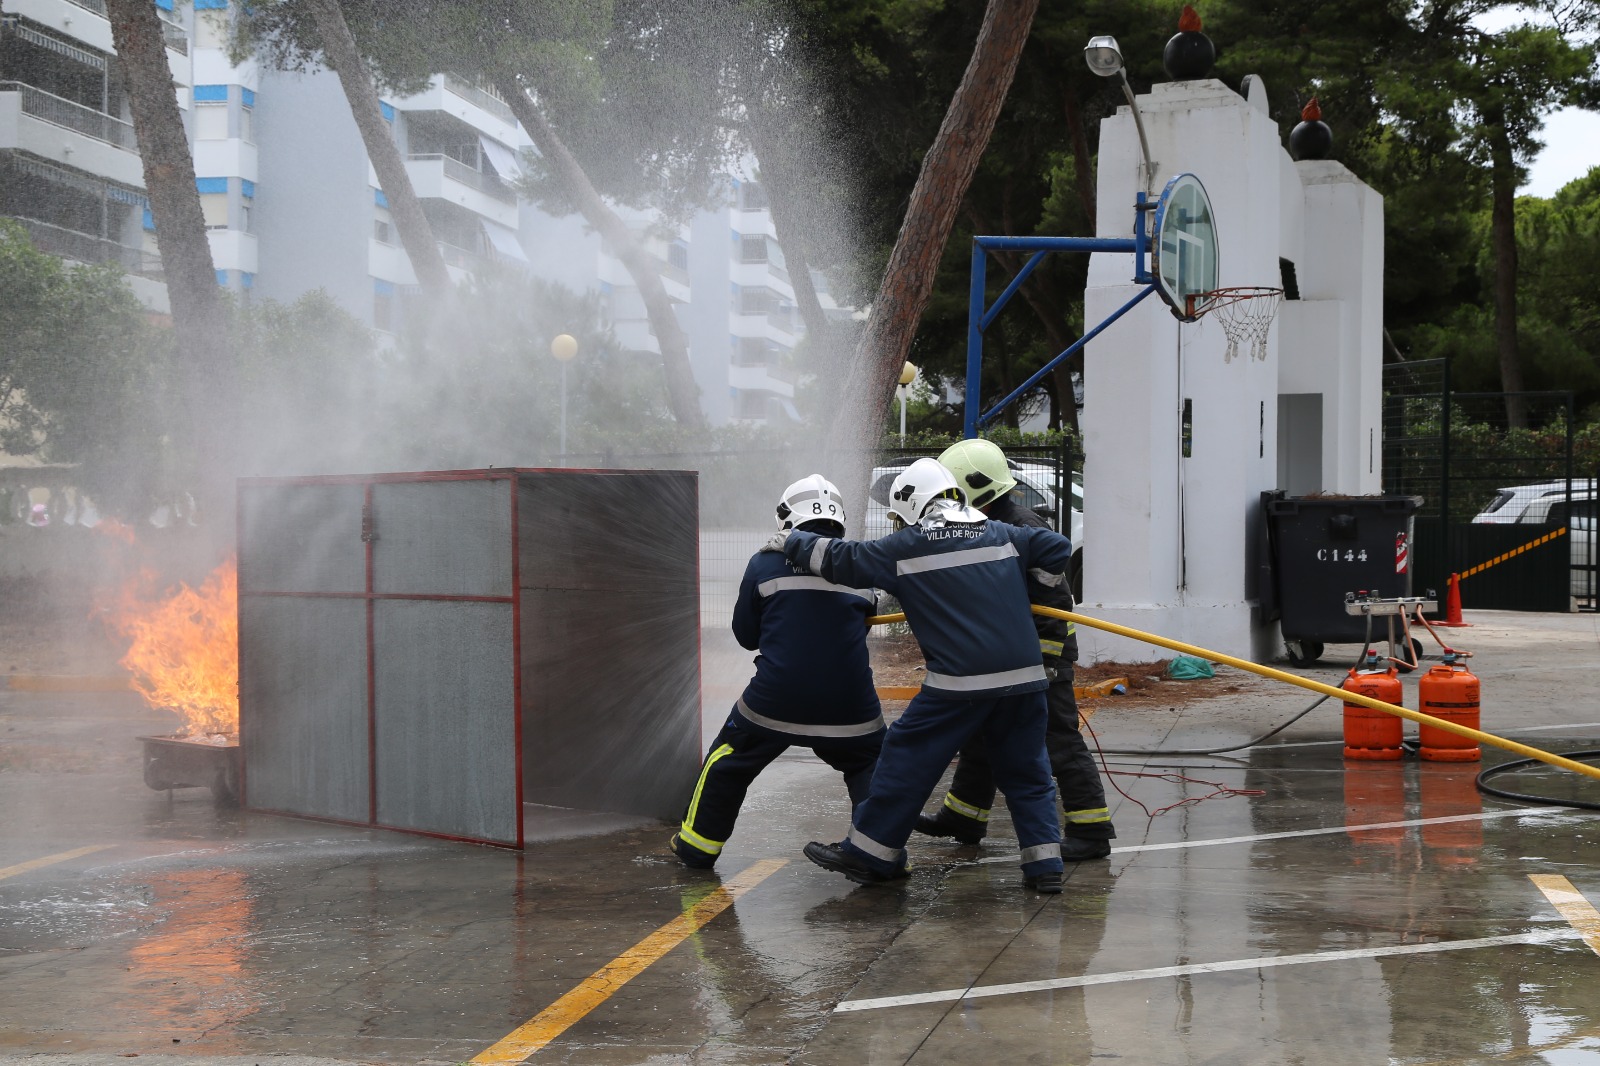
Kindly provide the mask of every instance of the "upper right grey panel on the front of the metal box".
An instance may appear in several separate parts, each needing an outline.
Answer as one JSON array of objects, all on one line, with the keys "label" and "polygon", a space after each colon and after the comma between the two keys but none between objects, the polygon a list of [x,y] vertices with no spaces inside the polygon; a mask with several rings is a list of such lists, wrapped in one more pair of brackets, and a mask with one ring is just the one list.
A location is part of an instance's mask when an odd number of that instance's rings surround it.
[{"label": "upper right grey panel on the front of the metal box", "polygon": [[373,485],[373,591],[512,594],[509,479]]}]

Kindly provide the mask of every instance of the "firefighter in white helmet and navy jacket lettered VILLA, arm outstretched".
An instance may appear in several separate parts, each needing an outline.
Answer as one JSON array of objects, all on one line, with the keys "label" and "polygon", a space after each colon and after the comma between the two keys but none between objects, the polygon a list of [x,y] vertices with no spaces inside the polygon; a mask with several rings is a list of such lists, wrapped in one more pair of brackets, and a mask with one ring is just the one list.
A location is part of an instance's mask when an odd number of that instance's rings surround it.
[{"label": "firefighter in white helmet and navy jacket lettered VILLA, arm outstretched", "polygon": [[1051,530],[990,522],[966,506],[950,472],[917,459],[890,487],[899,527],[875,541],[790,530],[770,551],[827,581],[899,599],[928,663],[922,690],[883,738],[872,791],[837,844],[811,842],[818,866],[872,885],[907,876],[906,840],[928,794],[981,736],[1011,808],[1022,884],[1061,892],[1061,823],[1045,759],[1045,688],[1027,573],[1061,579],[1072,557]]}]

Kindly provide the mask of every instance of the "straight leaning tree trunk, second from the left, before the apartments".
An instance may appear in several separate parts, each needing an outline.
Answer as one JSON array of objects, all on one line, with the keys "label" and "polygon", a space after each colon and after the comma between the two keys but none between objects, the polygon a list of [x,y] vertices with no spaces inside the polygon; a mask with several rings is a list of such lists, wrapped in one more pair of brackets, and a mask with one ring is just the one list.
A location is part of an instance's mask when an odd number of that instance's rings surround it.
[{"label": "straight leaning tree trunk, second from the left, before the apartments", "polygon": [[366,72],[362,53],[355,48],[355,37],[344,21],[344,11],[338,0],[306,0],[312,18],[317,22],[317,35],[322,38],[322,54],[328,66],[339,75],[344,88],[344,99],[350,104],[350,115],[355,128],[362,131],[362,144],[366,146],[366,157],[373,160],[378,171],[378,184],[389,200],[389,213],[395,219],[400,232],[400,243],[405,246],[416,280],[429,296],[442,298],[451,290],[450,271],[445,267],[445,256],[434,240],[434,227],[422,214],[422,202],[418,200],[411,187],[411,176],[405,171],[405,160],[395,146],[394,131],[384,120],[382,104],[378,102],[378,90]]}]

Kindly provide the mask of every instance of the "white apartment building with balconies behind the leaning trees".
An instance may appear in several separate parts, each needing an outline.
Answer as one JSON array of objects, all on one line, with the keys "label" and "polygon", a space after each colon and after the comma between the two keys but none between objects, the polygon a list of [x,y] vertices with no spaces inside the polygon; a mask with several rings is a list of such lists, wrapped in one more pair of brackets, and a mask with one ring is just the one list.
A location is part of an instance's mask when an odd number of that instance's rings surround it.
[{"label": "white apartment building with balconies behind the leaning trees", "polygon": [[[235,64],[227,45],[238,0],[152,2],[168,30],[218,283],[240,299],[285,303],[322,288],[392,333],[416,274],[338,77]],[[0,216],[62,258],[120,262],[141,299],[165,309],[104,2],[0,3]],[[440,74],[381,107],[458,280],[498,261],[598,291],[619,343],[659,357],[638,287],[611,250],[582,219],[518,200],[530,139],[502,99]],[[803,328],[782,248],[760,184],[730,176],[722,192],[717,206],[670,229],[651,213],[619,213],[674,301],[709,421],[797,419]]]}]

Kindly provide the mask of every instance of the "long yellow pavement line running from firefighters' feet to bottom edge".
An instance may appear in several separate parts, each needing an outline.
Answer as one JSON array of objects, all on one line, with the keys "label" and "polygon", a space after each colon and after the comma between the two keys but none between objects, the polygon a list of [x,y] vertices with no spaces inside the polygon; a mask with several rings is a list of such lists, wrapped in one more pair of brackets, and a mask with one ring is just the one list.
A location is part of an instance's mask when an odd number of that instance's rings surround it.
[{"label": "long yellow pavement line running from firefighters' feet to bottom edge", "polygon": [[630,980],[643,973],[650,964],[693,936],[702,925],[733,906],[733,901],[787,866],[789,860],[760,860],[738,877],[718,885],[688,911],[672,919],[654,933],[638,941],[611,962],[589,975],[582,984],[539,1012],[526,1024],[518,1026],[504,1040],[483,1052],[472,1063],[522,1063],[546,1044],[562,1036],[568,1028],[610,999]]}]

